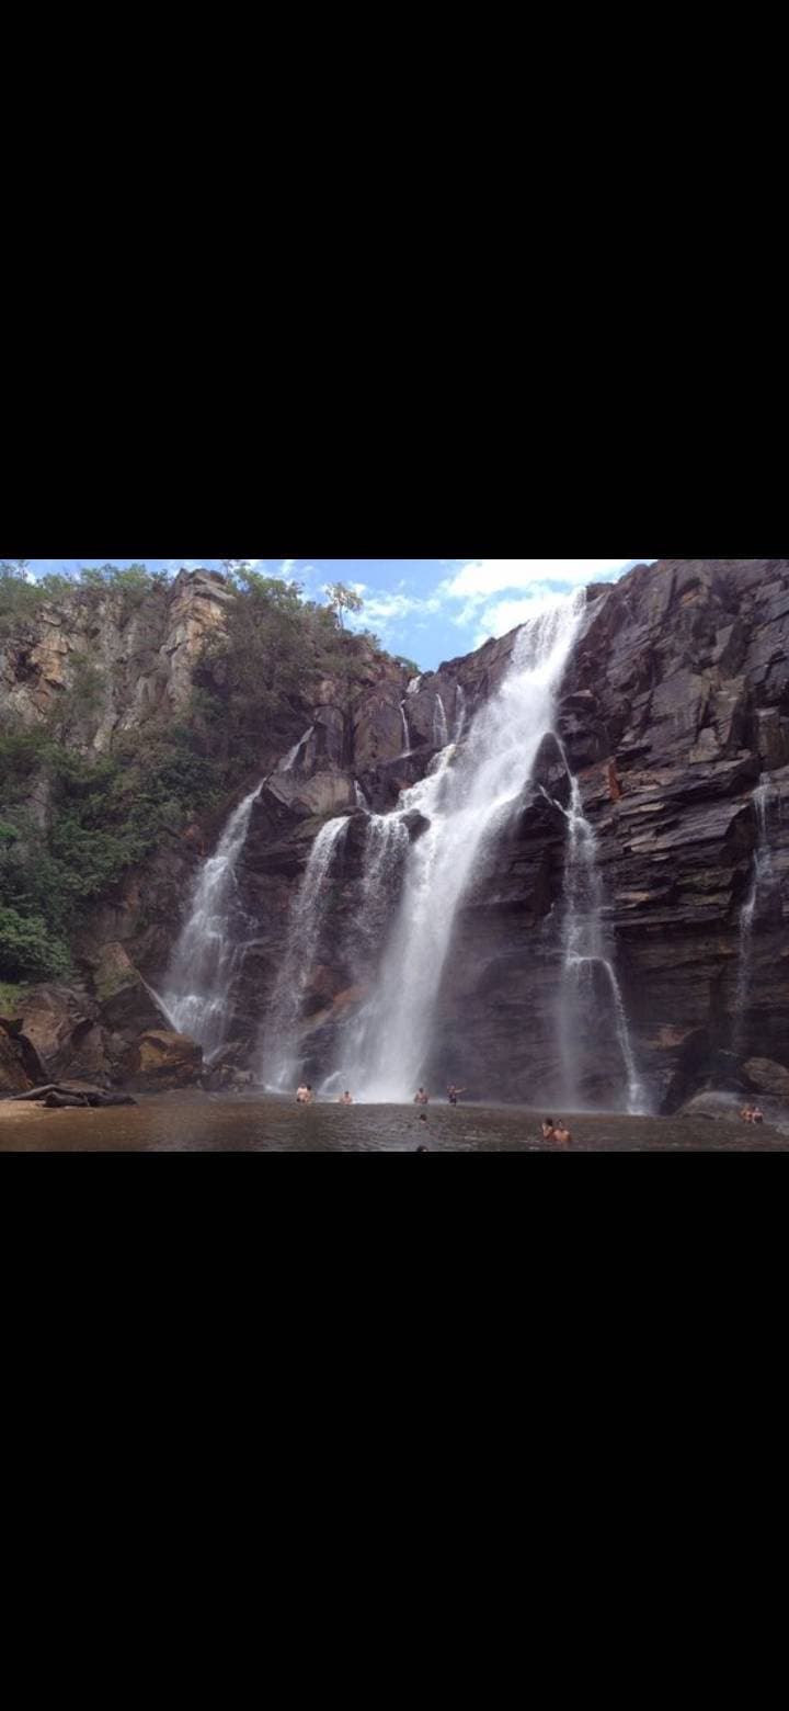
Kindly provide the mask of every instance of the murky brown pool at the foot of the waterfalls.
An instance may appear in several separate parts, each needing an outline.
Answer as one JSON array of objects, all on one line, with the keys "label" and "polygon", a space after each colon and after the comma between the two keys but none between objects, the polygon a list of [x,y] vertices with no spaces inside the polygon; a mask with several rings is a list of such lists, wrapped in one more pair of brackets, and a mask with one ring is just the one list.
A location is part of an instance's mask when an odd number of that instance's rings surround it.
[{"label": "murky brown pool at the foot of the waterfalls", "polygon": [[763,1124],[709,1117],[577,1116],[574,1145],[543,1141],[541,1110],[504,1105],[295,1105],[292,1100],[171,1093],[109,1110],[0,1104],[0,1152],[774,1152]]}]

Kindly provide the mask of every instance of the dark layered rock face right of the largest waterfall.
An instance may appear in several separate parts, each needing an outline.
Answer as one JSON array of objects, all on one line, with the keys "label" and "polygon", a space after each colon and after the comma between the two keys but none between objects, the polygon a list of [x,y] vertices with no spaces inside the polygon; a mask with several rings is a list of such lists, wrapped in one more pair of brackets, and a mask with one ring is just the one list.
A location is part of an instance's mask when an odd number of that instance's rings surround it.
[{"label": "dark layered rock face right of the largest waterfall", "polygon": [[[753,922],[739,1056],[789,1064],[787,660],[789,561],[671,561],[601,590],[567,671],[558,732],[596,833],[634,1049],[658,1109],[721,1085],[763,772],[774,878]],[[541,760],[536,777],[555,794]],[[444,982],[437,1081],[463,1066],[466,1081],[504,1097],[555,1081],[560,821],[545,799],[526,801],[466,900]],[[480,980],[465,979],[471,967]],[[599,1045],[605,1097],[617,1066]]]}]

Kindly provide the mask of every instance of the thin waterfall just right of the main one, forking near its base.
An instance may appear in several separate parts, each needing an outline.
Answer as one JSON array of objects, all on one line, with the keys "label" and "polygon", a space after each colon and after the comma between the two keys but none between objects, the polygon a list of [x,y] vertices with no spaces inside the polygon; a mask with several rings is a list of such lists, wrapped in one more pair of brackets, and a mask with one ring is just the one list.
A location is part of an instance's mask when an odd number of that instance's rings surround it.
[{"label": "thin waterfall just right of the main one, forking near its base", "polygon": [[[558,744],[564,755],[562,744]],[[567,756],[564,755],[565,765]],[[562,1098],[579,1102],[579,1057],[584,1040],[594,1040],[599,1028],[599,992],[603,975],[613,1011],[613,1027],[627,1081],[627,1109],[634,1116],[646,1109],[646,1095],[635,1069],[625,1003],[603,943],[603,879],[598,844],[586,820],[581,787],[570,779],[567,816],[567,857],[564,878],[562,984],[558,996],[558,1045],[562,1059]],[[545,794],[545,792],[543,792]],[[558,806],[558,804],[557,804]],[[605,1016],[603,1016],[605,1021]]]}]

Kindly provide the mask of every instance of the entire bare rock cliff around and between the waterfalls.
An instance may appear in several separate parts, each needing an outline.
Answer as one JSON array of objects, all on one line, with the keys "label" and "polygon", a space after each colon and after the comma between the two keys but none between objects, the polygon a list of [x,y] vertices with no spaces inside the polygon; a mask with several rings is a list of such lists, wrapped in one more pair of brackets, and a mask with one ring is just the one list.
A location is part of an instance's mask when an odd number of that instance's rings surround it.
[{"label": "entire bare rock cliff around and between the waterfalls", "polygon": [[[565,755],[594,830],[634,1051],[654,1107],[676,1109],[705,1086],[784,1086],[789,561],[659,561],[587,595],[560,690],[560,743],[546,736],[535,779],[456,922],[430,1080],[461,1080],[478,1097],[502,1098],[536,1098],[557,1086]],[[51,604],[0,647],[0,710],[34,725],[68,688],[80,657],[101,662],[101,703],[75,743],[111,753],[152,708],[188,710],[207,640],[222,631],[231,604],[220,577],[184,571],[125,618],[111,595],[92,606]],[[198,864],[258,779],[265,782],[237,866],[249,939],[227,992],[229,1044],[215,1085],[227,1085],[253,1056],[311,842],[328,816],[347,813],[304,1020],[318,1080],[338,1020],[364,989],[359,956],[350,955],[365,862],[360,802],[384,813],[424,777],[502,681],[512,642],[514,633],[412,681],[371,648],[352,686],[330,676],[292,698],[285,720],[261,719],[256,775],[164,838],[97,903],[79,934],[70,982],[27,992],[14,1035],[5,1032],[0,1086],[15,1092],[26,1075],[20,1039],[48,1073],[92,1073],[106,1085],[125,1076],[142,1085],[154,1056],[159,1080],[162,1064],[176,1063],[172,1085],[205,1073],[176,1035],[166,1049],[169,1023],[155,992]],[[770,859],[753,898],[738,1020],[743,905],[763,832],[755,792],[765,779]],[[31,804],[46,816],[46,789],[36,779]],[[418,825],[408,830],[418,835]],[[605,1104],[617,1073],[615,1042],[603,1030],[584,1052],[584,1097]]]}]

